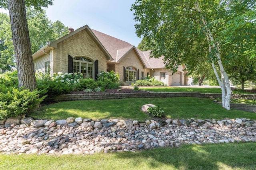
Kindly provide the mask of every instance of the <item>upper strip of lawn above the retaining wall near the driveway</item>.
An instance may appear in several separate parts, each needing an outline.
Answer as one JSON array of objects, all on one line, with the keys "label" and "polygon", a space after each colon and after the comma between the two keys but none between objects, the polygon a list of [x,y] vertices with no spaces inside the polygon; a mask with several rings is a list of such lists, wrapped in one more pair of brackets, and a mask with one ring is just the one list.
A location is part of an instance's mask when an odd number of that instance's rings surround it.
[{"label": "upper strip of lawn above the retaining wall near the driveway", "polygon": [[[154,87],[144,88],[140,87],[140,90],[146,90],[150,92],[200,92],[200,93],[221,93],[220,88],[187,88],[187,87]],[[243,92],[241,90],[232,91],[234,94],[252,94],[250,92]]]}]

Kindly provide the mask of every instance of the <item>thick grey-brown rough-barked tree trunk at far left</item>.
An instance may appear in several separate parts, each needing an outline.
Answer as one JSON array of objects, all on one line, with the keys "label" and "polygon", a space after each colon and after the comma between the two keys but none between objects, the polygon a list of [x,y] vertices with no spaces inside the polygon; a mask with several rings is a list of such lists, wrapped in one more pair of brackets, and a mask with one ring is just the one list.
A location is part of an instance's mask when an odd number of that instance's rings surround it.
[{"label": "thick grey-brown rough-barked tree trunk at far left", "polygon": [[8,0],[19,87],[37,88],[24,0]]}]

